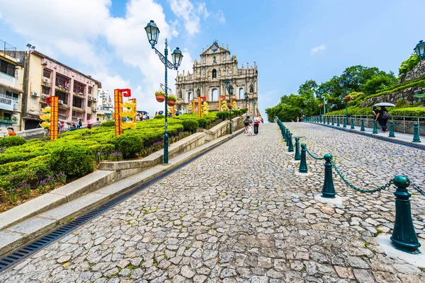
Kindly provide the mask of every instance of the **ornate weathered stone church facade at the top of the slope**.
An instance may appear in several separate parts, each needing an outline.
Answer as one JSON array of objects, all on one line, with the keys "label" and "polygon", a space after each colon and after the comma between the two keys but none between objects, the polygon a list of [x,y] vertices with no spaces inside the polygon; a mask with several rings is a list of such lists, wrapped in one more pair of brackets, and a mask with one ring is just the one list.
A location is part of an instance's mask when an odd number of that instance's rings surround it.
[{"label": "ornate weathered stone church facade at the top of the slope", "polygon": [[193,98],[205,96],[210,106],[210,111],[218,111],[218,98],[225,96],[229,102],[229,93],[225,88],[225,80],[229,80],[234,92],[232,98],[236,98],[238,108],[248,108],[248,112],[258,112],[258,68],[254,66],[246,68],[238,67],[237,56],[230,55],[227,49],[218,46],[214,42],[207,46],[200,54],[200,61],[195,59],[193,70],[185,74],[177,73],[176,78],[176,107],[178,110],[188,112],[189,103]]}]

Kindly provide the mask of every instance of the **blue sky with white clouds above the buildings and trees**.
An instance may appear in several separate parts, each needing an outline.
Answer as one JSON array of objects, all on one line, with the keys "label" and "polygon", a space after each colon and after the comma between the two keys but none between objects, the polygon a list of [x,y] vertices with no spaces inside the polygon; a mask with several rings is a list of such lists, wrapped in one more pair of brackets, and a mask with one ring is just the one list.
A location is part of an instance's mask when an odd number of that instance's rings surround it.
[{"label": "blue sky with white clouds above the buildings and trees", "polygon": [[[19,2],[19,3],[13,3]],[[91,74],[104,88],[127,88],[137,108],[162,110],[153,92],[164,67],[143,30],[153,19],[191,69],[202,48],[218,40],[239,64],[259,66],[259,106],[278,103],[308,79],[318,83],[362,64],[398,74],[424,40],[423,0],[0,0],[0,39],[37,50]],[[422,27],[422,28],[421,28]],[[169,75],[174,89],[173,72]]]}]

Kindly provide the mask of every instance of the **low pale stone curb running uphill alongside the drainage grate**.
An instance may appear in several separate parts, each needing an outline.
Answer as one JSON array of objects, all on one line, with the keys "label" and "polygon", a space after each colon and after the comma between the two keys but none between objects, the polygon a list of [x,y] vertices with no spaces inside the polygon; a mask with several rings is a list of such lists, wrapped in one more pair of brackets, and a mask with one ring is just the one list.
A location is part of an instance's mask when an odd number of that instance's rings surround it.
[{"label": "low pale stone curb running uphill alongside the drainage grate", "polygon": [[169,165],[164,166],[159,164],[157,166],[153,166],[152,168],[135,175],[131,175],[128,178],[119,180],[118,182],[109,183],[106,187],[102,187],[94,192],[89,192],[86,195],[70,202],[63,203],[58,207],[51,208],[49,210],[44,209],[44,212],[41,214],[33,214],[33,217],[30,219],[21,221],[13,226],[9,226],[7,229],[0,231],[0,256],[4,256],[13,250],[16,250],[16,248],[19,248],[20,246],[35,240],[39,236],[42,236],[42,234],[55,229],[57,226],[60,226],[60,224],[64,224],[64,222],[67,222],[69,219],[79,216],[80,214],[97,207],[99,204],[111,200],[111,198],[115,196],[121,195],[142,183],[146,183],[161,173],[180,166],[182,163],[191,160],[199,154],[203,154],[205,151],[208,151],[208,149],[232,139],[237,134],[242,133],[243,130],[244,129],[239,129],[232,135],[220,137],[214,141],[198,146],[196,149],[180,154],[179,156],[172,158]]}]

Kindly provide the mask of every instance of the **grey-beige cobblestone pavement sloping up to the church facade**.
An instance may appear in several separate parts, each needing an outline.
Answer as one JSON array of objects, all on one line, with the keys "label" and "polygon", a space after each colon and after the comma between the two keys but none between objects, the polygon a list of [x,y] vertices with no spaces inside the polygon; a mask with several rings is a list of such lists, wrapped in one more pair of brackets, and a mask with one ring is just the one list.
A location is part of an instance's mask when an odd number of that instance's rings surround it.
[{"label": "grey-beige cobblestone pavement sloping up to the church facade", "polygon": [[[425,151],[320,125],[288,124],[312,153],[334,154],[362,187],[404,173],[424,186]],[[322,204],[323,161],[294,175],[278,126],[240,134],[0,274],[0,282],[425,282],[387,258],[394,190],[355,192],[334,177],[344,207]],[[425,238],[425,199],[412,197]]]}]

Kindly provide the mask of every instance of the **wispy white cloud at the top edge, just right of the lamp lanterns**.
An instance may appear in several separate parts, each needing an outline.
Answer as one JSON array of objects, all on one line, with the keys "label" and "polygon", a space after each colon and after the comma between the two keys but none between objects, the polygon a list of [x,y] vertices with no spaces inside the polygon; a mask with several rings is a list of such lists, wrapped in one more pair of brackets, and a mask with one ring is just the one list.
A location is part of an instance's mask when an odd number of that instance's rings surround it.
[{"label": "wispy white cloud at the top edge, just right of the lamp lanterns", "polygon": [[200,17],[208,18],[205,3],[198,3],[196,6],[190,0],[169,0],[171,11],[184,22],[184,27],[189,35],[195,35],[200,31]]}]

